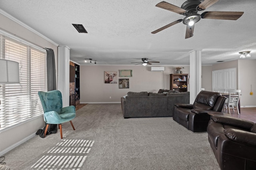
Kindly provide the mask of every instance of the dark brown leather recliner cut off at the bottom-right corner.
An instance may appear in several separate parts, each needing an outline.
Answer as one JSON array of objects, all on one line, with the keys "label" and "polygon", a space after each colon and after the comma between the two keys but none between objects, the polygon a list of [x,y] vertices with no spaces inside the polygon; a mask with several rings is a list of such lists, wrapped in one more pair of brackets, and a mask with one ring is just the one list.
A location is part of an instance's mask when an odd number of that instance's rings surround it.
[{"label": "dark brown leather recliner cut off at the bottom-right corner", "polygon": [[256,170],[256,124],[247,120],[212,116],[208,140],[222,170]]}]

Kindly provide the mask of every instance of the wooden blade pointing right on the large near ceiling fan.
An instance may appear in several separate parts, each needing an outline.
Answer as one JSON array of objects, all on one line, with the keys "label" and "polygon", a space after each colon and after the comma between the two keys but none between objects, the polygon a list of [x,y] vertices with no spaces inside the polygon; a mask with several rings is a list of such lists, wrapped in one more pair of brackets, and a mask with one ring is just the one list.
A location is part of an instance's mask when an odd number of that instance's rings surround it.
[{"label": "wooden blade pointing right on the large near ceiling fan", "polygon": [[201,18],[218,20],[237,20],[244,12],[208,11],[201,14]]}]

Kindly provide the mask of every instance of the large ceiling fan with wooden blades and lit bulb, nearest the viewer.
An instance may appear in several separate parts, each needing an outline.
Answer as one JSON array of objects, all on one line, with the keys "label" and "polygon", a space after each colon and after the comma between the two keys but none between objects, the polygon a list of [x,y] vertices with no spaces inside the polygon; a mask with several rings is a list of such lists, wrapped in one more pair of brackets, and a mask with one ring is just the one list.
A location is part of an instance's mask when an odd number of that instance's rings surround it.
[{"label": "large ceiling fan with wooden blades and lit bulb, nearest the viewer", "polygon": [[244,14],[244,12],[224,12],[224,11],[208,11],[203,12],[202,14],[198,14],[198,11],[205,10],[206,8],[212,6],[218,2],[218,0],[187,0],[181,5],[181,8],[168,2],[160,2],[156,4],[156,7],[163,8],[165,10],[169,10],[171,12],[175,12],[178,14],[182,14],[186,16],[183,19],[174,21],[162,28],[159,28],[153,32],[152,34],[156,34],[170,26],[183,22],[183,24],[187,25],[186,28],[186,38],[190,38],[193,36],[194,32],[194,24],[198,22],[201,18],[205,19],[218,19],[218,20],[237,20]]}]

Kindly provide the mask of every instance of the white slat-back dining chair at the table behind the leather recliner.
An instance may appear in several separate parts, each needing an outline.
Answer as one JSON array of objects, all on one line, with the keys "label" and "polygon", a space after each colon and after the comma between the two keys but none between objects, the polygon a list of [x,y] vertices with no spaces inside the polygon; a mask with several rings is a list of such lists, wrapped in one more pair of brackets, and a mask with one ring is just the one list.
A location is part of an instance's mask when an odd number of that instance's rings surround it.
[{"label": "white slat-back dining chair at the table behind the leather recliner", "polygon": [[237,109],[237,113],[238,115],[240,115],[239,109],[238,109],[238,101],[240,99],[240,93],[241,93],[241,90],[229,90],[228,100],[225,103],[228,107],[229,114],[230,114],[230,109],[233,109],[233,112],[234,112],[234,109]]}]

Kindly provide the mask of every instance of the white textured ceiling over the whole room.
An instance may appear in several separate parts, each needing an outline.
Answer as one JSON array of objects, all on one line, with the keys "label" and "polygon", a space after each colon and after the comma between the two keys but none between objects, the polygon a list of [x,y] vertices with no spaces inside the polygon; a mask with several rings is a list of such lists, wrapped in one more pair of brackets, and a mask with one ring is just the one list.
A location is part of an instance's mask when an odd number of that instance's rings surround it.
[{"label": "white textured ceiling over the whole room", "polygon": [[[185,1],[185,0],[184,0]],[[184,1],[166,0],[181,6]],[[202,11],[242,11],[236,21],[201,19],[194,36],[185,39],[179,23],[151,34],[184,16],[156,7],[161,0],[0,0],[0,9],[59,45],[70,47],[79,64],[129,65],[148,58],[154,65],[189,65],[189,51],[202,49],[202,64],[239,59],[252,51],[256,59],[255,0],[219,0]],[[202,12],[198,12],[202,14]],[[88,34],[72,24],[83,24]],[[92,64],[92,63],[87,63]]]}]

